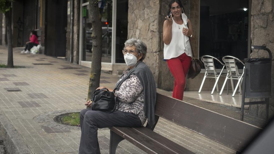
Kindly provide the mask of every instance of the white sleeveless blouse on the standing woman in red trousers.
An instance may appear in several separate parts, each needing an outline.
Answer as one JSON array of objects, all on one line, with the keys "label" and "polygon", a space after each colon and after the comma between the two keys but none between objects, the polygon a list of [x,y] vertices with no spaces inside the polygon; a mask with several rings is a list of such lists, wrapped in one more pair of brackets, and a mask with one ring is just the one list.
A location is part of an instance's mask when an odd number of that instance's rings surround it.
[{"label": "white sleeveless blouse on the standing woman in red trousers", "polygon": [[192,57],[189,38],[184,35],[182,30],[187,27],[187,19],[183,20],[182,25],[177,24],[172,18],[172,38],[170,43],[164,44],[164,59],[171,59],[186,53]]}]

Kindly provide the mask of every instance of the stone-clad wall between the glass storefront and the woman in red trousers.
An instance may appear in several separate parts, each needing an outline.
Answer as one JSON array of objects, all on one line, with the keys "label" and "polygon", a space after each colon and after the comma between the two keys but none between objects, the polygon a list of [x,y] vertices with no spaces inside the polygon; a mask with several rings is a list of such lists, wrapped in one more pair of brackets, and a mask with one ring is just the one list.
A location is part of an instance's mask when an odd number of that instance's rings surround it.
[{"label": "stone-clad wall between the glass storefront and the woman in red trousers", "polygon": [[[141,39],[147,44],[148,51],[144,62],[154,74],[157,87],[170,90],[170,87],[173,88],[170,86],[172,75],[163,61],[164,16],[161,15],[161,4],[161,0],[129,0],[128,38]],[[162,81],[163,78],[165,81]]]}]

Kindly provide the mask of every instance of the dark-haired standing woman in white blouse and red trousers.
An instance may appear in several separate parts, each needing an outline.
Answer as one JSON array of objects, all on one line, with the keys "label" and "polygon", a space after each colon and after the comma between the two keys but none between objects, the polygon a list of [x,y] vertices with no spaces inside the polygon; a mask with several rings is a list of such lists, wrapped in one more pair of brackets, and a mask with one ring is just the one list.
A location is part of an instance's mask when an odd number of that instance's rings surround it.
[{"label": "dark-haired standing woman in white blouse and red trousers", "polygon": [[193,38],[193,32],[180,0],[172,0],[169,9],[170,17],[166,17],[163,25],[164,59],[167,60],[168,68],[175,78],[172,97],[183,100],[192,56],[189,39]]}]

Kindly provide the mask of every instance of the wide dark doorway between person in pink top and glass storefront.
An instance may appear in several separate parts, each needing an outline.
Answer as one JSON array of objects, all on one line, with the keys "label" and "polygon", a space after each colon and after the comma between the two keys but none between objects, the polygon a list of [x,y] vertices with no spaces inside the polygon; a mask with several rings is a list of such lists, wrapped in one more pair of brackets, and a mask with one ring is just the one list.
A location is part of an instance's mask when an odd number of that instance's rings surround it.
[{"label": "wide dark doorway between person in pink top and glass storefront", "polygon": [[68,1],[46,1],[45,15],[45,54],[66,56]]}]

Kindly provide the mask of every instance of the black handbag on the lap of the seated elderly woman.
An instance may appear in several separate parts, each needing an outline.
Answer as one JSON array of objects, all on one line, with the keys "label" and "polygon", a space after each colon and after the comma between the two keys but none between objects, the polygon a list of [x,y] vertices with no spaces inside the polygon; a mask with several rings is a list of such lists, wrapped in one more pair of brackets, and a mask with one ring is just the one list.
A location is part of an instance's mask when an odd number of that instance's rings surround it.
[{"label": "black handbag on the lap of the seated elderly woman", "polygon": [[91,109],[94,111],[106,111],[108,113],[117,111],[119,109],[119,101],[114,95],[114,91],[111,92],[106,88],[95,90],[93,92]]}]

